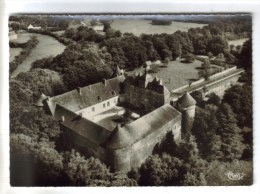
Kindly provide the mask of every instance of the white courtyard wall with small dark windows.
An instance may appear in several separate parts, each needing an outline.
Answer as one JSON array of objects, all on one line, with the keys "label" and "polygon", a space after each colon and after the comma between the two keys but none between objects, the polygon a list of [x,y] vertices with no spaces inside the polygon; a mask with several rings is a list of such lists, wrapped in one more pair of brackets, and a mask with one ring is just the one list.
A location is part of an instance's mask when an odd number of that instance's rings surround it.
[{"label": "white courtyard wall with small dark windows", "polygon": [[102,112],[105,112],[111,108],[114,108],[118,103],[118,96],[115,96],[113,98],[110,98],[108,100],[102,101],[98,104],[95,104],[93,106],[89,106],[85,109],[82,109],[80,111],[77,111],[77,114],[82,114],[85,118],[91,118],[95,115],[98,115]]}]

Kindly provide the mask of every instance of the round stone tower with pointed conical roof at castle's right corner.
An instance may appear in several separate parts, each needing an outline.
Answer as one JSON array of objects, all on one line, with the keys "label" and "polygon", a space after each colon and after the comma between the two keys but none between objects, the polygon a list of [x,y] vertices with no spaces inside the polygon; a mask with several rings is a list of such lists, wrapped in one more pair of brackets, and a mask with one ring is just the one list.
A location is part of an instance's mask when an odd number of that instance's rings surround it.
[{"label": "round stone tower with pointed conical roof at castle's right corner", "polygon": [[177,109],[182,113],[182,135],[184,137],[193,126],[195,108],[196,100],[188,92],[185,92],[177,101]]}]

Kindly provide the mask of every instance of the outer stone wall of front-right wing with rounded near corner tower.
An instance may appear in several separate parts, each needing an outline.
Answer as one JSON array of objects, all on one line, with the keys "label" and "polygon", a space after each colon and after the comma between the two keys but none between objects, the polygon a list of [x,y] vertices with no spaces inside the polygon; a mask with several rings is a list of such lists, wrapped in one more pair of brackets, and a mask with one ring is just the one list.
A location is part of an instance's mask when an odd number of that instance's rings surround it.
[{"label": "outer stone wall of front-right wing with rounded near corner tower", "polygon": [[152,155],[156,144],[160,144],[170,131],[173,132],[174,141],[178,143],[181,140],[181,116],[166,123],[161,129],[141,138],[133,145],[108,151],[108,161],[114,170],[130,171],[132,168],[138,168],[145,162],[148,156]]}]

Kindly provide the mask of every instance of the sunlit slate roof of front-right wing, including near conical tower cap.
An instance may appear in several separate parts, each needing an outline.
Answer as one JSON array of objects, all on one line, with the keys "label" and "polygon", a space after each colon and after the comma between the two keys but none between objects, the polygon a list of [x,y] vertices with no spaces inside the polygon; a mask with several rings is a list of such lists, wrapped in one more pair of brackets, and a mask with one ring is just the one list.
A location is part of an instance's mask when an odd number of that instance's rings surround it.
[{"label": "sunlit slate roof of front-right wing, including near conical tower cap", "polygon": [[105,143],[110,149],[120,149],[134,144],[156,130],[160,130],[165,124],[181,117],[181,113],[169,104],[150,112],[149,114],[117,127]]}]

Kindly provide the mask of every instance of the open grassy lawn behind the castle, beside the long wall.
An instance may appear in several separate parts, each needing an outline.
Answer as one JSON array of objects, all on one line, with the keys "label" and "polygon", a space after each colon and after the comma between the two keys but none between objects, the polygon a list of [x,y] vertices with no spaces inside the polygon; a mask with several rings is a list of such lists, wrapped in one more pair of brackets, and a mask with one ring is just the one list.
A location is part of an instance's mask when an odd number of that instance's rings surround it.
[{"label": "open grassy lawn behind the castle, beside the long wall", "polygon": [[[161,67],[158,73],[151,73],[152,77],[163,80],[163,84],[172,91],[173,89],[189,84],[189,79],[198,79],[198,69],[202,62],[195,60],[193,63],[182,63],[182,59],[171,61],[168,67]],[[143,71],[143,68],[127,72],[133,75],[135,72]]]}]

